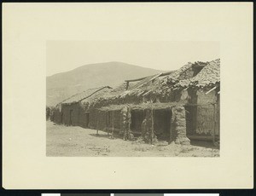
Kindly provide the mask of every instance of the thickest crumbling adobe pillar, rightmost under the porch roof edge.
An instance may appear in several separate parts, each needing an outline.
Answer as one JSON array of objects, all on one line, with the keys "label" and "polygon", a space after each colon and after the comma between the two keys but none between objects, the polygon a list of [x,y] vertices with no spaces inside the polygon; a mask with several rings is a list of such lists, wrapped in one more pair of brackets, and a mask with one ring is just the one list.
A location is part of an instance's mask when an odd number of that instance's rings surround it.
[{"label": "thickest crumbling adobe pillar, rightmost under the porch roof edge", "polygon": [[172,107],[171,141],[176,144],[189,145],[190,140],[186,133],[186,118],[184,107]]}]

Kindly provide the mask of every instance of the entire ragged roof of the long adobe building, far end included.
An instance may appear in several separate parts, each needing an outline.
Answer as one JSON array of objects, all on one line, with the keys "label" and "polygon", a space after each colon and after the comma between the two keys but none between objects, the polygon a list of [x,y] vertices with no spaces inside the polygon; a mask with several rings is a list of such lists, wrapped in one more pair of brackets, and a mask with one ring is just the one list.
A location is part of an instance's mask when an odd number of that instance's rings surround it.
[{"label": "entire ragged roof of the long adobe building, far end included", "polygon": [[145,78],[125,80],[124,84],[116,89],[109,86],[88,89],[80,94],[73,95],[60,104],[72,104],[81,102],[84,107],[94,107],[96,104],[111,105],[119,102],[125,103],[127,96],[133,97],[134,101],[146,96],[170,95],[174,89],[189,87],[212,87],[220,83],[220,60],[210,62],[189,62],[180,69],[158,73]]}]

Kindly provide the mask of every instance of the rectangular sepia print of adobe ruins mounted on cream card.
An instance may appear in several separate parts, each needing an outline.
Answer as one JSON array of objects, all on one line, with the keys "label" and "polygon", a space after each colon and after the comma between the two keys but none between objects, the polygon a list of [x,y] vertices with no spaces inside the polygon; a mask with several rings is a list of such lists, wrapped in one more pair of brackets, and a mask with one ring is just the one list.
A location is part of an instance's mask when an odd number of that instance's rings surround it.
[{"label": "rectangular sepia print of adobe ruins mounted on cream card", "polygon": [[218,42],[46,49],[47,72],[57,72],[46,78],[47,156],[219,156]]}]

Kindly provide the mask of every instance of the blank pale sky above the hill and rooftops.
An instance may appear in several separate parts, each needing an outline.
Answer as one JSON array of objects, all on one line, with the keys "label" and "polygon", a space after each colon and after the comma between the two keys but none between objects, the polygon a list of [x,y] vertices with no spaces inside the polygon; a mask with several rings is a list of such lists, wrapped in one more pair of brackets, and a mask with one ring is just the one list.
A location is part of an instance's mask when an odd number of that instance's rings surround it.
[{"label": "blank pale sky above the hill and rooftops", "polygon": [[109,61],[171,71],[187,62],[220,58],[218,42],[48,41],[46,44],[47,76]]}]

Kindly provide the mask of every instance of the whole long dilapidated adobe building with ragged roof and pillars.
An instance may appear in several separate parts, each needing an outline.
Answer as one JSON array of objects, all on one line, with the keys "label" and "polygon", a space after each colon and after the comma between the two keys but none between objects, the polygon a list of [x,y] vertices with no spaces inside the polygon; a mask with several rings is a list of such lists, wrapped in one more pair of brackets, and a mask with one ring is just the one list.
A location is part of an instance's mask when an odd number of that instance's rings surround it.
[{"label": "whole long dilapidated adobe building with ragged roof and pillars", "polygon": [[103,130],[148,143],[219,141],[220,60],[188,63],[173,72],[88,89],[50,112],[56,124]]}]

